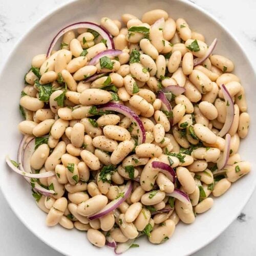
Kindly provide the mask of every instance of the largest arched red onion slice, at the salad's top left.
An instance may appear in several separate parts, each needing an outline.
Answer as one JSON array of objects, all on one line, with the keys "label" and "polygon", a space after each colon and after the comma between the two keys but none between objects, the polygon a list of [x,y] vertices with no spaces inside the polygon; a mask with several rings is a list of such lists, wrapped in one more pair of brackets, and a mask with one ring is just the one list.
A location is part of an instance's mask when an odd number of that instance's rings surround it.
[{"label": "largest arched red onion slice, at the salad's top left", "polygon": [[106,40],[106,46],[108,47],[108,49],[115,49],[115,45],[114,45],[112,36],[104,28],[102,28],[99,25],[92,23],[92,22],[77,22],[77,23],[71,24],[71,25],[61,29],[57,33],[57,35],[54,36],[54,38],[51,41],[50,47],[48,48],[46,57],[48,58],[51,55],[53,47],[55,46],[56,42],[63,34],[65,34],[66,32],[68,32],[72,29],[79,29],[79,28],[88,28],[88,29],[92,29],[92,30],[98,32],[102,36],[102,38]]}]

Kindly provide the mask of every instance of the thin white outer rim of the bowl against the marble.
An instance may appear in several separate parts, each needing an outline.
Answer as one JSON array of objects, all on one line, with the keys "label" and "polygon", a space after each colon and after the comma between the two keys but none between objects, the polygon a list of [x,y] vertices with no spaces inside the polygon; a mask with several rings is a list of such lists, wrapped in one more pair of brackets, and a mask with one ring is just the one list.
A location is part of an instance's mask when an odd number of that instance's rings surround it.
[{"label": "thin white outer rim of the bowl against the marble", "polygon": [[[32,32],[33,29],[35,29],[37,26],[40,26],[42,23],[45,22],[45,20],[49,17],[54,15],[56,12],[58,12],[60,9],[67,7],[69,5],[74,4],[75,2],[79,2],[81,0],[70,0],[67,3],[63,3],[63,4],[58,4],[58,6],[56,6],[55,8],[53,8],[52,10],[48,11],[45,15],[42,15],[40,18],[38,18],[36,20],[36,22],[34,23],[33,26],[30,26],[27,30],[25,30],[25,32],[22,34],[22,36],[20,36],[20,38],[16,41],[16,43],[14,44],[12,50],[7,54],[6,59],[3,61],[2,63],[2,67],[0,69],[0,80],[2,78],[2,74],[4,71],[5,66],[7,65],[8,61],[12,58],[14,52],[16,51],[16,49],[18,48],[19,44],[21,41],[24,40],[24,38],[30,33]],[[214,15],[212,15],[211,13],[209,13],[207,10],[205,10],[204,8],[202,8],[201,6],[199,6],[198,4],[194,3],[191,0],[173,0],[175,2],[181,2],[184,5],[187,5],[191,8],[195,8],[198,11],[202,12],[203,14],[205,14],[206,16],[208,16],[212,22],[217,23],[234,41],[236,41],[236,44],[238,45],[239,50],[243,53],[243,55],[245,56],[246,61],[248,62],[248,65],[251,67],[252,71],[253,71],[253,75],[254,77],[256,77],[256,71],[253,68],[252,62],[250,60],[250,58],[248,57],[247,52],[244,50],[244,48],[242,47],[241,42],[237,39],[236,36],[233,35],[232,32],[229,31],[229,29],[223,25],[218,19],[217,17],[215,17]],[[248,188],[249,193],[247,194],[247,196],[245,197],[245,199],[243,200],[243,203],[240,204],[240,207],[237,208],[237,210],[235,212],[237,212],[239,210],[239,212],[242,211],[242,209],[245,207],[245,205],[248,203],[249,199],[251,198],[253,191],[256,188],[256,180],[254,180],[253,186],[251,186],[250,188]],[[44,242],[47,246],[53,248],[54,250],[56,250],[57,252],[63,254],[63,255],[67,255],[65,252],[61,251],[59,249],[59,247],[55,246],[54,244],[50,244],[46,239],[41,238],[39,236],[39,234],[36,233],[36,231],[34,231],[33,229],[31,229],[26,222],[23,221],[23,219],[19,216],[18,211],[15,210],[15,208],[12,206],[12,204],[10,204],[10,202],[7,199],[7,194],[4,191],[4,189],[2,189],[2,186],[0,185],[0,190],[2,191],[2,194],[4,196],[4,199],[6,200],[6,202],[8,203],[9,207],[11,208],[11,210],[14,212],[15,216],[18,218],[18,220],[30,231],[32,232],[40,241]],[[221,233],[223,233],[229,226],[230,224],[237,218],[236,214],[233,214],[232,216],[230,216],[229,220],[226,222],[226,225],[223,226],[222,228],[218,229],[218,231],[216,232],[215,236],[210,237],[208,240],[206,239],[205,243],[203,245],[199,245],[199,246],[195,246],[195,248],[193,250],[191,250],[189,252],[189,254],[187,255],[191,255],[197,251],[199,251],[200,249],[204,248],[205,246],[207,246],[208,244],[210,244],[212,241],[216,240],[217,237],[220,236]]]}]

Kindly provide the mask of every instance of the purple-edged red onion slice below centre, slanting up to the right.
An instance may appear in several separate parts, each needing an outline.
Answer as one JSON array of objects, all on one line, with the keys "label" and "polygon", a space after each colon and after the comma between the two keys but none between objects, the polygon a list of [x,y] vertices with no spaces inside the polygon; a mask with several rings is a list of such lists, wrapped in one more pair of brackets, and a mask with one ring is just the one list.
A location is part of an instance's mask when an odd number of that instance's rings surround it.
[{"label": "purple-edged red onion slice below centre, slanting up to the right", "polygon": [[95,220],[98,219],[100,217],[103,217],[107,214],[109,214],[111,211],[113,211],[114,209],[116,209],[122,202],[124,202],[127,197],[129,197],[129,195],[132,192],[132,182],[128,181],[124,187],[124,189],[122,190],[122,195],[117,199],[114,199],[113,201],[111,201],[109,204],[107,204],[102,210],[98,211],[96,214],[88,217],[89,220]]}]

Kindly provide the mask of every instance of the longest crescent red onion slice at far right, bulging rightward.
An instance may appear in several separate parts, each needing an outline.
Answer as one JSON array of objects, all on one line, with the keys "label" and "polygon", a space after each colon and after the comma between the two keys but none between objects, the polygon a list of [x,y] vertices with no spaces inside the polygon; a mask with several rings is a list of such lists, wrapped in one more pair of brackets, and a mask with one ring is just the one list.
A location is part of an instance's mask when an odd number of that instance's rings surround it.
[{"label": "longest crescent red onion slice at far right, bulging rightward", "polygon": [[223,137],[228,133],[234,120],[234,103],[232,97],[230,96],[224,84],[221,85],[221,90],[223,92],[223,96],[226,103],[226,120],[218,136]]}]

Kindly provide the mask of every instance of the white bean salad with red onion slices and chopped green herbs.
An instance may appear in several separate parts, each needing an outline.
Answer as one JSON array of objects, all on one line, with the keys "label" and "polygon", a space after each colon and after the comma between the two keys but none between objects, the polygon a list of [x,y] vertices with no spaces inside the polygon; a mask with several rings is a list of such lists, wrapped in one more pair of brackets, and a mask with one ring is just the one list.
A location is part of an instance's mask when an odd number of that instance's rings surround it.
[{"label": "white bean salad with red onion slices and chopped green herbs", "polygon": [[[167,241],[250,172],[250,117],[233,62],[164,10],[79,22],[33,57],[17,162],[46,224],[122,253]],[[59,50],[53,50],[61,44]],[[206,43],[207,41],[207,43]],[[227,202],[228,204],[228,202]]]}]

